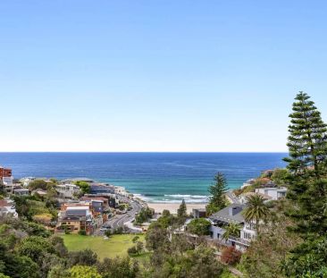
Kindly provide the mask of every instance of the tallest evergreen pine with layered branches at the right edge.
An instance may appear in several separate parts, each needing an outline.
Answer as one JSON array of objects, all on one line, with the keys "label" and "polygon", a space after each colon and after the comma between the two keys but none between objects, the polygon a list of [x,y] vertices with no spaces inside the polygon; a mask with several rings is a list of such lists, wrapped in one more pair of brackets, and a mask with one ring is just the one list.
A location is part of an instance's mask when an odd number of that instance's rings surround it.
[{"label": "tallest evergreen pine with layered branches at the right edge", "polygon": [[327,264],[327,125],[305,93],[300,92],[289,115],[289,206],[291,231],[304,240],[283,263],[290,276],[323,277]]}]

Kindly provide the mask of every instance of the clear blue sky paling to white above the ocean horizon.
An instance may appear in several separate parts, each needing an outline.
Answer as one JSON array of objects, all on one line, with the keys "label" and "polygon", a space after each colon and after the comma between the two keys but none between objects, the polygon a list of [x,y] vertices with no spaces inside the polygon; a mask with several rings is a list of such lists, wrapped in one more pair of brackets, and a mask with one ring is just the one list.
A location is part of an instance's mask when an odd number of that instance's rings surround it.
[{"label": "clear blue sky paling to white above the ocean horizon", "polygon": [[0,151],[285,151],[326,35],[326,1],[3,0]]}]

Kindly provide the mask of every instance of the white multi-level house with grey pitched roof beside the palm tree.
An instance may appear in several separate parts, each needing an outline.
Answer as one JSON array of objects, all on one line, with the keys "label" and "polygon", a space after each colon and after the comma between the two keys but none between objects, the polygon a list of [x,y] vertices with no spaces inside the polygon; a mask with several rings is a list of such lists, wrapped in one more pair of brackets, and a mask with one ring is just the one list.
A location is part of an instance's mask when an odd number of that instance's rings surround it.
[{"label": "white multi-level house with grey pitched roof beside the palm tree", "polygon": [[[219,212],[211,215],[209,220],[213,223],[210,227],[211,239],[222,245],[234,246],[240,251],[245,251],[251,240],[256,237],[255,225],[247,223],[242,215],[246,206],[242,204],[231,204],[222,208]],[[225,227],[229,223],[236,223],[240,227],[239,237],[230,236],[228,240],[223,239]]]}]

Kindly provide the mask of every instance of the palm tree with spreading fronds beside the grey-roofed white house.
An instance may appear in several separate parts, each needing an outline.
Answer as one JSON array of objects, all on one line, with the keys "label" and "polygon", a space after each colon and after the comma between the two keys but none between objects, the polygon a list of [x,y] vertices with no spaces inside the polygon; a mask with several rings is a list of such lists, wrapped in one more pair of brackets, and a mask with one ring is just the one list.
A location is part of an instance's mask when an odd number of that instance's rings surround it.
[{"label": "palm tree with spreading fronds beside the grey-roofed white house", "polygon": [[258,231],[260,220],[269,215],[269,208],[264,204],[264,198],[258,194],[247,197],[247,207],[243,211],[247,222],[256,223]]}]

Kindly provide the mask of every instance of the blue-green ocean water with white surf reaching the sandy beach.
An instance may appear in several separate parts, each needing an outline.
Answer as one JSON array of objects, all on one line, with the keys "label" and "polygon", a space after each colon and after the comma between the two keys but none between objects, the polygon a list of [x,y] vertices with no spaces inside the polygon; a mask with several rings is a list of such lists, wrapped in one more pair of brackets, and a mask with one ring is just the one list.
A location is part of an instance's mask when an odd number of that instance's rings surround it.
[{"label": "blue-green ocean water with white surf reaching the sandy beach", "polygon": [[285,153],[0,153],[0,165],[26,176],[88,177],[123,186],[148,201],[203,202],[214,174],[239,188],[262,171],[283,167]]}]

